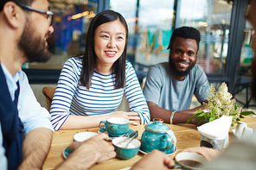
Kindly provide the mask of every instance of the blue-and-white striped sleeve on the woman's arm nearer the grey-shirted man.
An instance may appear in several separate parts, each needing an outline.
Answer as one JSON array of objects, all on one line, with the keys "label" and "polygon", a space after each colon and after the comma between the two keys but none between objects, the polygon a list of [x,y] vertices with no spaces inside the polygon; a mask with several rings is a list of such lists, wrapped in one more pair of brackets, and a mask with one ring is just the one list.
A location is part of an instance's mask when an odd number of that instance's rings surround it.
[{"label": "blue-and-white striped sleeve on the woman's arm nearer the grey-shirted man", "polygon": [[144,98],[144,94],[138,82],[137,75],[131,66],[131,63],[126,63],[125,68],[126,83],[125,83],[125,98],[129,102],[131,111],[138,113],[141,124],[150,122],[150,111],[148,104]]}]

